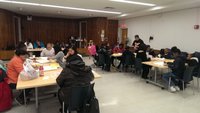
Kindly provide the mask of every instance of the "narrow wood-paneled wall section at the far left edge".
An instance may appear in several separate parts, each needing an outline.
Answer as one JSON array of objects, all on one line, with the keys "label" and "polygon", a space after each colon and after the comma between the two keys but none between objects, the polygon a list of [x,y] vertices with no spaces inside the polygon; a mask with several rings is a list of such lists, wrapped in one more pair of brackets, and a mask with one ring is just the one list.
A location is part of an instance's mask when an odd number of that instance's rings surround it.
[{"label": "narrow wood-paneled wall section at the far left edge", "polygon": [[0,9],[0,50],[14,45],[14,21],[11,12]]}]

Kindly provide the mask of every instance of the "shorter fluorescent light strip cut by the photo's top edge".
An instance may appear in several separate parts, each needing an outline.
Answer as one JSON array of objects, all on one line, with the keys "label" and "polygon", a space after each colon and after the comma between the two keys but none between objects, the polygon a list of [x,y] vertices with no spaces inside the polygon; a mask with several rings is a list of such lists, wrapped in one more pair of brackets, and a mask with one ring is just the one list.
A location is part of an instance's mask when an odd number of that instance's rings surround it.
[{"label": "shorter fluorescent light strip cut by the photo's top edge", "polygon": [[130,0],[110,0],[113,2],[121,2],[121,3],[129,3],[129,4],[136,4],[136,5],[145,5],[145,6],[156,6],[156,4],[144,3],[144,2],[136,2]]}]

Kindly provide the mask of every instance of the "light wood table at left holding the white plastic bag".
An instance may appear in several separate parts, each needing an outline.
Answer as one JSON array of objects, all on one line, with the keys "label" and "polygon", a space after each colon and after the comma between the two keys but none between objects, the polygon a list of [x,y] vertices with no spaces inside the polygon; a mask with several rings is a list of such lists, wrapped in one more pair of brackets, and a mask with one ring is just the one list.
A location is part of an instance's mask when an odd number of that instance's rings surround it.
[{"label": "light wood table at left holding the white plastic bag", "polygon": [[[18,82],[17,82],[17,90],[35,88],[35,106],[36,106],[36,109],[38,109],[38,103],[39,103],[38,88],[56,85],[56,78],[59,76],[61,71],[62,71],[62,68],[58,68],[58,69],[54,69],[50,71],[44,71],[43,77],[38,77],[37,79],[33,79],[29,81],[22,81],[19,77]],[[101,78],[100,74],[96,73],[95,71],[92,71],[92,72],[94,74],[95,79]],[[26,99],[25,99],[25,103],[26,103]]]}]

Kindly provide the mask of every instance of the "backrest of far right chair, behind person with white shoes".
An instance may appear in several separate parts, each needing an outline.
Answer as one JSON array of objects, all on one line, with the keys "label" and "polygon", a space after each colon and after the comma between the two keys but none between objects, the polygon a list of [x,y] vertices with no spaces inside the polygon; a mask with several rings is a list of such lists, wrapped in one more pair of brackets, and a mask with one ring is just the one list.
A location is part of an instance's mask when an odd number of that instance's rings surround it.
[{"label": "backrest of far right chair, behind person with white shoes", "polygon": [[186,70],[184,71],[184,75],[183,75],[184,82],[187,83],[187,82],[192,81],[192,75],[193,75],[195,68],[196,68],[196,66],[189,66],[186,68]]}]

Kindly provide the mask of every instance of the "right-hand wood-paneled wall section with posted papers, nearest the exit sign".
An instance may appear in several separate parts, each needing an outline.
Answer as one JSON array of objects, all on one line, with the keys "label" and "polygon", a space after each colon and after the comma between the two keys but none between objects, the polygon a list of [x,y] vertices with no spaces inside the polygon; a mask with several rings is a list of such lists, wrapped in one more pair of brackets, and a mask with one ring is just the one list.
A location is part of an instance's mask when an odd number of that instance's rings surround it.
[{"label": "right-hand wood-paneled wall section with posted papers, nearest the exit sign", "polygon": [[118,20],[108,20],[104,17],[89,18],[81,21],[87,21],[87,39],[93,40],[95,44],[100,45],[101,32],[104,30],[105,36],[110,45],[117,43]]}]

